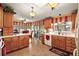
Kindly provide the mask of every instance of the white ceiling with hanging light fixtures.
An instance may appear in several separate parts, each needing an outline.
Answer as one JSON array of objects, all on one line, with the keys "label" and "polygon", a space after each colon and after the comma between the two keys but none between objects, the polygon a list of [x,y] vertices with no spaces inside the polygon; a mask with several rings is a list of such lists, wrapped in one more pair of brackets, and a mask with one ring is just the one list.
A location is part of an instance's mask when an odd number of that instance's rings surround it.
[{"label": "white ceiling with hanging light fixtures", "polygon": [[[42,3],[39,3],[43,5]],[[23,18],[27,21],[36,21],[41,20],[46,17],[55,17],[59,14],[65,15],[71,13],[73,10],[78,8],[77,3],[58,3],[55,9],[51,9],[48,4],[44,4],[43,6],[39,6],[34,3],[4,3],[3,4],[11,6],[15,12],[15,18]],[[34,18],[30,17],[31,7],[34,7],[34,11],[36,12],[36,16]]]}]

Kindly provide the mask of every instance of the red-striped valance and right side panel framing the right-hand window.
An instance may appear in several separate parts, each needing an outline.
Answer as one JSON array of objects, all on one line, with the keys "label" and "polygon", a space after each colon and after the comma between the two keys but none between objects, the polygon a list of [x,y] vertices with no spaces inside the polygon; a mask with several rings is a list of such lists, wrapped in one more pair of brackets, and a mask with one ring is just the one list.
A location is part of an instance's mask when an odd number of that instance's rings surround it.
[{"label": "red-striped valance and right side panel framing the right-hand window", "polygon": [[[54,23],[58,23],[58,22],[71,22],[71,31],[75,31],[75,23],[76,23],[76,13],[75,14],[68,14],[66,16],[61,16],[61,17],[54,17]],[[48,22],[47,22],[48,23]],[[46,25],[47,26],[47,25]]]}]

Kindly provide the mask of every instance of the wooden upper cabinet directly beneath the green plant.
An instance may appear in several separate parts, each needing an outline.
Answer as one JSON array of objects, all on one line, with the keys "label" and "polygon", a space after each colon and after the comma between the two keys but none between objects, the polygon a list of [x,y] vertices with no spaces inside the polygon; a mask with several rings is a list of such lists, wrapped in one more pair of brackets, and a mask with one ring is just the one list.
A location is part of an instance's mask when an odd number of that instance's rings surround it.
[{"label": "wooden upper cabinet directly beneath the green plant", "polygon": [[3,26],[4,27],[12,27],[13,26],[13,14],[5,13],[3,14]]}]

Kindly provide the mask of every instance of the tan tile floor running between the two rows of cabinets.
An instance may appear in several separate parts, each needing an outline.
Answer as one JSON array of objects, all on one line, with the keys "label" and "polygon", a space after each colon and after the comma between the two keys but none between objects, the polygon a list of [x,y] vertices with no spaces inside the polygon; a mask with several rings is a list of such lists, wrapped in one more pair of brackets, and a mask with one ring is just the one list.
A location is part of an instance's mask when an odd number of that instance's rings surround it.
[{"label": "tan tile floor running between the two rows of cabinets", "polygon": [[30,40],[29,47],[7,54],[7,56],[58,56],[49,51],[49,46],[39,40]]}]

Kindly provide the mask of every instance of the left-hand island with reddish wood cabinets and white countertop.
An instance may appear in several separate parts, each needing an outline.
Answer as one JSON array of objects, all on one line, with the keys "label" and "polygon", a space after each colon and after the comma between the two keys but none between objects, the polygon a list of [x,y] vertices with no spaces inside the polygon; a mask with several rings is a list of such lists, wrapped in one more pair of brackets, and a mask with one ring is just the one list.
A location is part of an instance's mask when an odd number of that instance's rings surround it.
[{"label": "left-hand island with reddish wood cabinets and white countertop", "polygon": [[30,33],[0,36],[4,41],[3,55],[29,46]]}]

